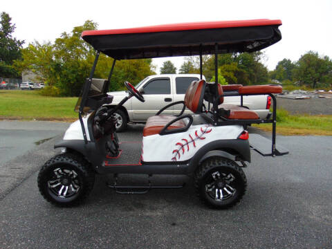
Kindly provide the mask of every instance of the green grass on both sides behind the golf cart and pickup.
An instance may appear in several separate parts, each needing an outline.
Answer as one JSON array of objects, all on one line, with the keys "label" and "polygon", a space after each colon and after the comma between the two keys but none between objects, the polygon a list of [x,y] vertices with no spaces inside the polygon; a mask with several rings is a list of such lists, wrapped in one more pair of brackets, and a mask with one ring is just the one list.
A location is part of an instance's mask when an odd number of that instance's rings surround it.
[{"label": "green grass on both sides behind the golf cart and pickup", "polygon": [[[0,118],[72,121],[77,119],[73,111],[76,102],[76,97],[46,97],[38,91],[0,90]],[[271,124],[253,126],[266,131],[272,129]],[[277,133],[332,136],[332,116],[290,115],[278,109]]]}]

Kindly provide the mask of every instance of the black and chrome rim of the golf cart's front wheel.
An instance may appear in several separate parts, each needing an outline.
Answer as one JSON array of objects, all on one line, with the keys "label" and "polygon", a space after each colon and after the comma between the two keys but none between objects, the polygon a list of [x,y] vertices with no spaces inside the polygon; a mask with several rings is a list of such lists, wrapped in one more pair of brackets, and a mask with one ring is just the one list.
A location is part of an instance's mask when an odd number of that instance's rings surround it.
[{"label": "black and chrome rim of the golf cart's front wheel", "polygon": [[81,188],[75,170],[61,168],[53,170],[53,178],[47,182],[47,186],[52,194],[62,199],[74,196]]}]

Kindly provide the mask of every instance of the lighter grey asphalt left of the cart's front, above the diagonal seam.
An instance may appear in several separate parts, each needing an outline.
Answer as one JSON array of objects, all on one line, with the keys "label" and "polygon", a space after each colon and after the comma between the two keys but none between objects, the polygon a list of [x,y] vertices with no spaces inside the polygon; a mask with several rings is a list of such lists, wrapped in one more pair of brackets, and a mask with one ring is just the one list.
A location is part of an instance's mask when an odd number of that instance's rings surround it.
[{"label": "lighter grey asphalt left of the cart's front, above the diagonal seam", "polygon": [[[38,147],[64,133],[70,123],[47,121],[0,121],[0,199],[40,166],[31,158],[39,158],[39,149],[51,156],[53,147]],[[43,158],[45,159],[45,158]]]}]

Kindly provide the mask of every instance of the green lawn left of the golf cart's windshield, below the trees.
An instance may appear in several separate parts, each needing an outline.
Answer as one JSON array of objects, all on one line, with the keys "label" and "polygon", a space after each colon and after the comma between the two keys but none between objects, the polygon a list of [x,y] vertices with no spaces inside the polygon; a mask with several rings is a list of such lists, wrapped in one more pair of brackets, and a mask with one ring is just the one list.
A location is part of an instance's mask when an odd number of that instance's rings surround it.
[{"label": "green lawn left of the golf cart's windshield, below the trees", "polygon": [[1,90],[0,116],[36,120],[77,119],[74,107],[77,98],[56,98],[39,95],[38,91]]}]

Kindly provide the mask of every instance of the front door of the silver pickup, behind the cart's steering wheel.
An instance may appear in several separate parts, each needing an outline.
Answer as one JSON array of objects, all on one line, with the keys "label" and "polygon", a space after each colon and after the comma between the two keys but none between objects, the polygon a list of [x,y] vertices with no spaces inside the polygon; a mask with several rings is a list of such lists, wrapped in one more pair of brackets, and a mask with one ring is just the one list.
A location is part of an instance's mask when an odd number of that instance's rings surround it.
[{"label": "front door of the silver pickup, behind the cart's steering wheel", "polygon": [[[171,80],[169,77],[152,78],[142,88],[144,90],[142,94],[145,102],[131,98],[134,122],[146,121],[147,118],[156,115],[160,109],[173,102]],[[163,114],[172,115],[173,108],[165,110]]]}]

